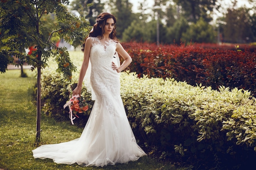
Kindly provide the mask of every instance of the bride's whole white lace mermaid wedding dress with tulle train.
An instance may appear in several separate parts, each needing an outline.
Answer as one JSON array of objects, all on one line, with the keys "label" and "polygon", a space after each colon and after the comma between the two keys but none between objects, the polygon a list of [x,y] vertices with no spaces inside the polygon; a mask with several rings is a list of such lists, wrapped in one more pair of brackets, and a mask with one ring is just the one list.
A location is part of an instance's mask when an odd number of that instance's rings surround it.
[{"label": "bride's whole white lace mermaid wedding dress with tulle train", "polygon": [[92,37],[91,86],[96,99],[81,137],[32,150],[34,158],[56,163],[105,166],[136,161],[145,152],[137,145],[120,95],[119,73],[112,69],[116,42]]}]

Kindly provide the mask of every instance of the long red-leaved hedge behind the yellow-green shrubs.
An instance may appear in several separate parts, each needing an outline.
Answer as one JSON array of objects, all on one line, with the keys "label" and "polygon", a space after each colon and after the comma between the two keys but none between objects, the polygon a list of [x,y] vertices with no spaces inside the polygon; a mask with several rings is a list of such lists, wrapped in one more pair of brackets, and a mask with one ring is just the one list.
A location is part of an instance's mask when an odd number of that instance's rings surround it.
[{"label": "long red-leaved hedge behind the yellow-green shrubs", "polygon": [[133,60],[128,69],[138,77],[171,77],[213,89],[220,85],[237,87],[256,96],[256,50],[250,46],[237,51],[235,46],[232,49],[213,44],[157,46],[128,42],[122,45]]}]

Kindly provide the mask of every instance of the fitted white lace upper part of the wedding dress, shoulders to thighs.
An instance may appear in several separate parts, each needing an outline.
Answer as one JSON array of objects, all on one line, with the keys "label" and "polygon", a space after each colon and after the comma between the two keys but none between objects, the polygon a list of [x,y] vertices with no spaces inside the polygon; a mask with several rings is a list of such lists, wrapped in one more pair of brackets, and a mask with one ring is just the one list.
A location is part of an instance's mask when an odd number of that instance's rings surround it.
[{"label": "fitted white lace upper part of the wedding dress, shoulders to thighs", "polygon": [[102,44],[99,38],[92,37],[90,79],[96,98],[100,100],[120,95],[119,74],[112,68],[116,45],[114,40]]}]

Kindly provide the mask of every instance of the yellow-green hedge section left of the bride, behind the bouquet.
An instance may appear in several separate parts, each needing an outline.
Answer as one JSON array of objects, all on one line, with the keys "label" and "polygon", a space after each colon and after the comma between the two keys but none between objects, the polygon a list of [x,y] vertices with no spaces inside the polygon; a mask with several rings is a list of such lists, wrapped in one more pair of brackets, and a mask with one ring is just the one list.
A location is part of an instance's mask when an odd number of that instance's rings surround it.
[{"label": "yellow-green hedge section left of the bride, behind the bouquet", "polygon": [[[70,120],[69,110],[63,109],[66,102],[72,97],[72,85],[76,83],[78,74],[75,74],[71,81],[65,80],[65,77],[60,76],[59,73],[54,72],[52,69],[46,69],[42,76],[42,111],[54,117],[58,121]],[[89,110],[85,114],[79,114],[79,119],[75,119],[74,123],[79,126],[85,126],[85,120],[88,119],[91,108],[94,102],[91,101],[90,93],[86,93],[86,88],[82,88],[83,99],[89,103]]]}]

